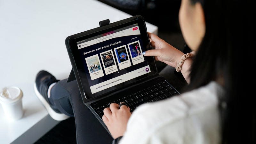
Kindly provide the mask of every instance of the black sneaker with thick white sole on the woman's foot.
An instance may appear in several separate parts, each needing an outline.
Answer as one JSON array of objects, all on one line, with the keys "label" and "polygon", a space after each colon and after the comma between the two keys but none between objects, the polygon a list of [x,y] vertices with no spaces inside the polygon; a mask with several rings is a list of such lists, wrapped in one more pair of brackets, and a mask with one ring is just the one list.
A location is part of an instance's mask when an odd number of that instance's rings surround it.
[{"label": "black sneaker with thick white sole on the woman's foot", "polygon": [[51,102],[49,100],[48,94],[47,94],[49,86],[53,83],[58,82],[58,81],[59,80],[57,80],[49,72],[47,72],[45,70],[41,70],[36,75],[36,82],[34,84],[34,90],[35,90],[36,96],[42,102],[42,104],[46,108],[49,115],[54,120],[62,121],[62,120],[65,120],[65,119],[69,118],[69,116],[61,113],[58,110],[58,108],[56,108],[53,105],[53,102]]}]

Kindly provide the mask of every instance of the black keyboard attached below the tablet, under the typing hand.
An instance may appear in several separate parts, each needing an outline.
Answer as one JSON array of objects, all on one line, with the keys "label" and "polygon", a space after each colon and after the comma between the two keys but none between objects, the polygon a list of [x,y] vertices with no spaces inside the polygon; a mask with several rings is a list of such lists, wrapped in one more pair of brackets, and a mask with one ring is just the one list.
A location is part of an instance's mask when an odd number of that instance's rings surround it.
[{"label": "black keyboard attached below the tablet, under the typing hand", "polygon": [[130,107],[131,112],[133,112],[143,103],[169,99],[173,95],[179,94],[171,84],[163,79],[149,81],[147,84],[150,85],[140,86],[140,90],[120,92],[110,98],[94,102],[91,104],[91,107],[102,118],[104,115],[103,109],[108,108],[111,103],[120,104],[120,102],[125,102]]}]

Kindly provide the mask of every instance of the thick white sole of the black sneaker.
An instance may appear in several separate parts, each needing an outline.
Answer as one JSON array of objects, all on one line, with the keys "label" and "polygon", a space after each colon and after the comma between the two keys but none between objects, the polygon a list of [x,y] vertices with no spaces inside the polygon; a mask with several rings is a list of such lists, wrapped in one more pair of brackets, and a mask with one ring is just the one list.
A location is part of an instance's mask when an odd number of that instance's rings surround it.
[{"label": "thick white sole of the black sneaker", "polygon": [[56,121],[63,121],[65,119],[68,119],[70,116],[67,116],[65,114],[56,113],[49,103],[44,99],[44,97],[38,92],[36,88],[36,84],[34,84],[34,91],[36,93],[37,98],[41,101],[41,103],[44,105],[44,108],[47,110],[48,114],[52,117],[52,119]]}]

